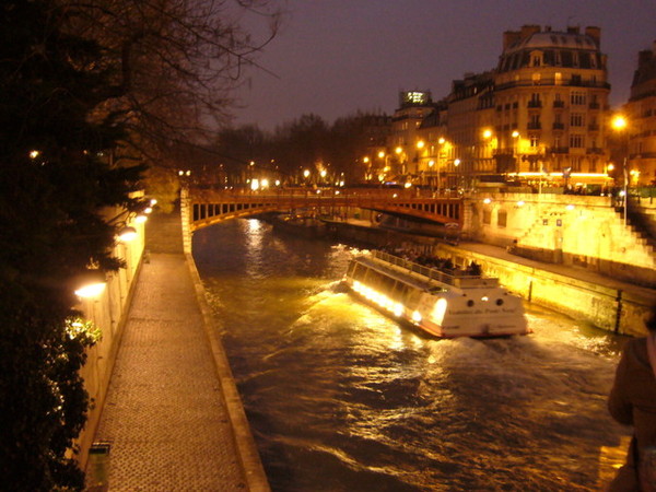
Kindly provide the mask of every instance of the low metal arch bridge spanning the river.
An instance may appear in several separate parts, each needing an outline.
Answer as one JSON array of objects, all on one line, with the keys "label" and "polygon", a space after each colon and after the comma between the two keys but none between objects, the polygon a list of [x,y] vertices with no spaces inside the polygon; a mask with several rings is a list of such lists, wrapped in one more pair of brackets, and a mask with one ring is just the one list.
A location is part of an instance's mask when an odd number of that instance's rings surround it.
[{"label": "low metal arch bridge spanning the river", "polygon": [[418,188],[279,188],[254,191],[185,186],[180,192],[180,212],[183,229],[189,241],[195,231],[230,219],[308,209],[316,210],[318,215],[341,211],[348,215],[349,209],[368,209],[460,226],[461,198],[433,195],[430,190]]}]

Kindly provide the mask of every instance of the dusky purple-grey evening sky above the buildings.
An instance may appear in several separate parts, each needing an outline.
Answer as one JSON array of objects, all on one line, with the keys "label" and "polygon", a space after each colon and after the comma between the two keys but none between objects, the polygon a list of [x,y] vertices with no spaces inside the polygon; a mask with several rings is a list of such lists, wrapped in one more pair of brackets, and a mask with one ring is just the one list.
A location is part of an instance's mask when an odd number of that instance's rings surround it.
[{"label": "dusky purple-grey evening sky above the buildings", "polygon": [[[493,69],[504,31],[601,28],[610,104],[629,97],[637,52],[656,40],[656,0],[282,0],[278,36],[235,94],[234,125],[272,130],[303,114],[393,114],[398,92],[446,96],[454,79]],[[260,26],[249,24],[257,31]],[[268,73],[268,71],[273,74]]]}]

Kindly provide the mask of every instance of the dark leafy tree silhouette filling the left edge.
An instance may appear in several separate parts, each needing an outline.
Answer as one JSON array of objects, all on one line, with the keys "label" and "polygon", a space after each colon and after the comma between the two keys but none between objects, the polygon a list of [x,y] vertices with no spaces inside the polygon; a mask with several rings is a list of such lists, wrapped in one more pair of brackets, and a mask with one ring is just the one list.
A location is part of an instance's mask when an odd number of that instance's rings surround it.
[{"label": "dark leafy tree silhouette filling the left edge", "polygon": [[[84,425],[79,375],[97,333],[71,321],[71,279],[115,270],[110,209],[142,207],[140,166],[107,159],[126,136],[107,101],[116,77],[95,42],[62,30],[46,0],[0,7],[0,477],[3,490],[80,490],[67,450]],[[114,164],[114,165],[113,165]]]}]

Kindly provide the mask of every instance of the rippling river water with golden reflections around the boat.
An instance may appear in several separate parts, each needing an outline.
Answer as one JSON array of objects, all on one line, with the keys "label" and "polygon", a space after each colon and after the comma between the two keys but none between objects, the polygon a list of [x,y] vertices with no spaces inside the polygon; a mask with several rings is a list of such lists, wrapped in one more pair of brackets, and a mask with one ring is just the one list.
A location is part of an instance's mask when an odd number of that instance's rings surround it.
[{"label": "rippling river water with golden reflections around the boat", "polygon": [[342,292],[352,254],[255,219],[195,233],[273,491],[599,490],[621,338],[527,306],[529,336],[438,340]]}]

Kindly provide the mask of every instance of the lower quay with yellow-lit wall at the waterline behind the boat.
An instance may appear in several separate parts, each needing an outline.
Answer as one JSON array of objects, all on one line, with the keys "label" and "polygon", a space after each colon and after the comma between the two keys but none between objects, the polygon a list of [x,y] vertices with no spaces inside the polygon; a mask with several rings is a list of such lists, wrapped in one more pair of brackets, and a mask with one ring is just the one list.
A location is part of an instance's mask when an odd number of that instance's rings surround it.
[{"label": "lower quay with yellow-lit wall at the waterline behind the boat", "polygon": [[377,226],[371,221],[328,221],[331,241],[354,242],[372,247],[418,247],[455,265],[481,265],[483,274],[526,301],[565,314],[583,323],[619,335],[643,336],[643,319],[656,290],[604,277],[589,270],[536,261],[509,254],[505,248],[459,242],[447,232],[442,237],[413,235]]}]

